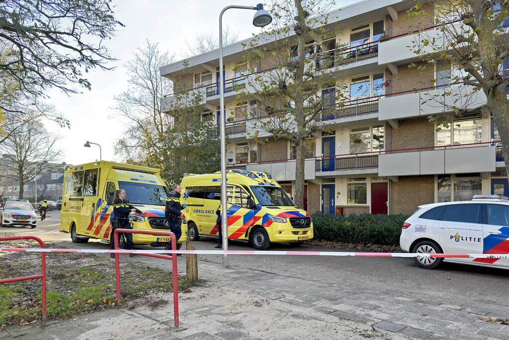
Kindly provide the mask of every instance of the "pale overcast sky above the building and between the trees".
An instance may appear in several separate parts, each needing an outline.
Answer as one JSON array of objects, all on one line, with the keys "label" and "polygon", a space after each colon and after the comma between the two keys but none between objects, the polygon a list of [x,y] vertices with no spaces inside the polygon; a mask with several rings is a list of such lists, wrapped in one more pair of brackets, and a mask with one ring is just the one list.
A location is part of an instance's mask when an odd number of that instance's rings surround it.
[{"label": "pale overcast sky above the building and between the trees", "polygon": [[[343,7],[358,0],[339,0],[336,7]],[[229,5],[253,6],[250,0],[114,0],[116,18],[125,27],[116,37],[107,42],[111,55],[118,61],[111,63],[113,71],[93,70],[86,77],[92,90],[65,95],[59,91],[49,92],[56,110],[71,123],[70,129],[47,124],[48,128],[62,136],[60,146],[64,151],[62,161],[81,164],[99,159],[99,148],[83,147],[89,140],[102,147],[102,159],[120,161],[115,156],[114,145],[125,121],[115,119],[114,97],[126,90],[127,76],[123,65],[132,59],[136,48],[143,47],[146,39],[159,43],[161,51],[176,54],[176,60],[185,56],[185,41],[192,41],[196,34],[213,32],[218,34],[218,16],[222,8]],[[254,12],[253,12],[254,13]],[[223,15],[223,25],[239,32],[239,40],[249,38],[260,29],[252,26],[252,15],[246,10],[229,10]]]}]

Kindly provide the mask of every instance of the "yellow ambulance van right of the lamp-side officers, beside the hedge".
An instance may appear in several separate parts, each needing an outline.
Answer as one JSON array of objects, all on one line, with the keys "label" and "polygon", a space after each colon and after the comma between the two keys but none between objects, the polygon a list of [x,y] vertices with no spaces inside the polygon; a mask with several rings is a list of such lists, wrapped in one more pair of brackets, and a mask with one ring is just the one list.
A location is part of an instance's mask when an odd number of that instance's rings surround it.
[{"label": "yellow ambulance van right of the lamp-side officers, beside the hedge", "polygon": [[[221,200],[221,174],[185,175],[181,203],[187,219],[187,237],[218,235],[216,210]],[[285,190],[269,174],[241,169],[227,173],[228,238],[248,240],[258,250],[272,242],[300,245],[313,238],[313,222],[295,207]],[[220,228],[220,226],[219,226]]]}]

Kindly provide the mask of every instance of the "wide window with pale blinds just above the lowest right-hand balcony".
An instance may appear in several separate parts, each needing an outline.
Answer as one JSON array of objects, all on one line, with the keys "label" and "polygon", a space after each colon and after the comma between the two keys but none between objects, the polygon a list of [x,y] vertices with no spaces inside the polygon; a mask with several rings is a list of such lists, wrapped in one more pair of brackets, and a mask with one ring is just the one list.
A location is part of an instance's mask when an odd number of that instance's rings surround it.
[{"label": "wide window with pale blinds just above the lowest right-hand balcony", "polygon": [[454,121],[437,131],[437,146],[481,143],[483,124],[480,119]]}]

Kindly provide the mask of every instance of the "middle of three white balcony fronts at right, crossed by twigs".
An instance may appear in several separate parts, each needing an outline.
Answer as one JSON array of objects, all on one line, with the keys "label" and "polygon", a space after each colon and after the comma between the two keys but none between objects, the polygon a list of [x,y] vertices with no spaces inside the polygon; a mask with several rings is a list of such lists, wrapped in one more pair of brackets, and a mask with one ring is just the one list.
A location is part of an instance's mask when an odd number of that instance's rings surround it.
[{"label": "middle of three white balcony fronts at right, crossed by twigs", "polygon": [[454,107],[477,107],[486,103],[483,91],[456,83],[385,95],[379,100],[379,120],[428,117]]}]

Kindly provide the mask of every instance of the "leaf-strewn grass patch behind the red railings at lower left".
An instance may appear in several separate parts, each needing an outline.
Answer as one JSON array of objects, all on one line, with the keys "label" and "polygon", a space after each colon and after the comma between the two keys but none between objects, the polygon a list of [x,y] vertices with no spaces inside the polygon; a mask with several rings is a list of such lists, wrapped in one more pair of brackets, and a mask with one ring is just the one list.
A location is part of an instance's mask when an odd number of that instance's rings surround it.
[{"label": "leaf-strewn grass patch behind the red railings at lower left", "polygon": [[[39,268],[40,256],[36,254],[8,253],[0,260],[2,277],[33,275],[40,272]],[[123,302],[172,292],[172,273],[122,261],[120,270]],[[178,277],[178,284],[179,290],[192,286],[183,276]],[[111,308],[116,304],[116,296],[115,267],[109,258],[94,254],[47,254],[48,320]],[[40,279],[0,285],[0,329],[39,322],[41,313]]]}]

